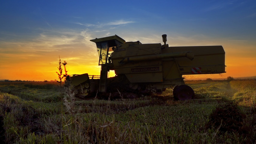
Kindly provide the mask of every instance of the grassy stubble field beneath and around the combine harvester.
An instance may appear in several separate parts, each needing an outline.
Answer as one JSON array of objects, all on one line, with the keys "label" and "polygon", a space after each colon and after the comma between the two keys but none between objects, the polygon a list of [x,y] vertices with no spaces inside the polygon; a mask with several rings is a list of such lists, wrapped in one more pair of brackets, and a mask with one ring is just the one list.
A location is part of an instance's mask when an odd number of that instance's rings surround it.
[{"label": "grassy stubble field beneath and around the combine harvester", "polygon": [[254,144],[256,80],[186,81],[195,99],[172,90],[136,99],[65,99],[56,83],[0,83],[0,143]]}]

